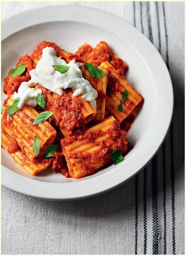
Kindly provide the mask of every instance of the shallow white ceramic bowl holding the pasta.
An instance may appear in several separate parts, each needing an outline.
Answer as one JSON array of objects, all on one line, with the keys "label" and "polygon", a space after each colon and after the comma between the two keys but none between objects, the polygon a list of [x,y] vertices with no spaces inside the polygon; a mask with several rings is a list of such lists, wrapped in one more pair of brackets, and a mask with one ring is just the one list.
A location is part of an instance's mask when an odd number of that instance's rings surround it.
[{"label": "shallow white ceramic bowl holding the pasta", "polygon": [[[30,54],[42,40],[54,41],[71,52],[84,42],[95,46],[104,40],[128,63],[127,79],[144,97],[144,105],[127,135],[133,148],[123,162],[81,179],[65,178],[60,173],[52,173],[50,168],[31,176],[2,149],[2,185],[40,198],[79,199],[122,184],[152,159],[170,126],[173,87],[164,60],[141,32],[110,13],[75,5],[21,12],[4,20],[1,30],[1,84],[19,56]],[[1,89],[1,102],[4,98]]]}]

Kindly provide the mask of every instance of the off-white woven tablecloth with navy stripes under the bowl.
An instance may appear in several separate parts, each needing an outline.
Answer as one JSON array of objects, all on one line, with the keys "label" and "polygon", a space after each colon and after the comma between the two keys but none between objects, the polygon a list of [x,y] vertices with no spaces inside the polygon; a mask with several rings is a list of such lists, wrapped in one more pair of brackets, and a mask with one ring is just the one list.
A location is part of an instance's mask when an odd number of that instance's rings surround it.
[{"label": "off-white woven tablecloth with navy stripes under the bowl", "polygon": [[[2,19],[25,9],[65,3],[2,2]],[[154,43],[174,85],[173,122],[148,166],[105,194],[79,201],[46,201],[2,187],[1,252],[184,254],[184,2],[70,4],[114,13]]]}]

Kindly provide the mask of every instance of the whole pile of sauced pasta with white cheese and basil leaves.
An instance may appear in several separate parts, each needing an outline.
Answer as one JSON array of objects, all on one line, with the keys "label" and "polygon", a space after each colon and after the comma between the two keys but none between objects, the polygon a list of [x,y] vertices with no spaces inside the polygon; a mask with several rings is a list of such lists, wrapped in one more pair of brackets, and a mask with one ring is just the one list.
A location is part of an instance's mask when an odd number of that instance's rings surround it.
[{"label": "whole pile of sauced pasta with white cheese and basil leaves", "polygon": [[119,164],[143,104],[127,69],[105,41],[75,53],[42,41],[4,78],[1,146],[31,175],[51,165],[81,178]]}]

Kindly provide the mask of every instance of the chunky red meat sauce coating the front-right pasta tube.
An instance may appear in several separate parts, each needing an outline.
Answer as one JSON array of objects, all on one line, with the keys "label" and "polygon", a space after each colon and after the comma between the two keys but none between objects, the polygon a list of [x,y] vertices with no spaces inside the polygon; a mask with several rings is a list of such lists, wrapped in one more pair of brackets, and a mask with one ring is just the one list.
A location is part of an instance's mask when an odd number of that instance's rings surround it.
[{"label": "chunky red meat sauce coating the front-right pasta tube", "polygon": [[[109,130],[102,131],[101,129],[93,129],[90,131],[83,131],[84,133],[76,132],[72,136],[66,136],[61,139],[61,146],[64,147],[70,143],[78,140],[83,140],[84,144],[93,143],[94,146],[98,146],[99,149],[93,153],[77,152],[71,153],[70,158],[75,159],[76,163],[81,164],[81,168],[91,175],[96,172],[94,168],[95,164],[100,162],[108,163],[111,158],[109,154],[116,149],[120,149],[123,154],[127,152],[127,132],[120,129],[120,125],[117,121],[112,122],[112,127]],[[106,139],[96,142],[96,138],[106,135]]]}]

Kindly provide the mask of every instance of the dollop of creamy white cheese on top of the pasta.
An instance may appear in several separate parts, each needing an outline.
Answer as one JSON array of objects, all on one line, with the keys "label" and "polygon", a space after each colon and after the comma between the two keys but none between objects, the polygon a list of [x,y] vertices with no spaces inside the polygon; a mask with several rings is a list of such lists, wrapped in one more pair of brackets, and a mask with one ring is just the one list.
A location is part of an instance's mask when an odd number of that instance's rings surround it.
[{"label": "dollop of creamy white cheese on top of the pasta", "polygon": [[[66,73],[60,73],[52,67],[55,64],[67,65],[69,70]],[[44,48],[35,69],[29,72],[31,79],[28,82],[22,82],[18,92],[14,92],[14,98],[20,97],[18,109],[22,108],[24,104],[36,106],[36,97],[41,93],[41,89],[35,90],[31,87],[37,83],[59,95],[62,95],[63,89],[72,88],[73,96],[81,95],[96,108],[97,91],[88,80],[83,78],[79,67],[80,63],[76,63],[75,60],[71,60],[67,64],[64,59],[57,57],[52,47]]]}]

